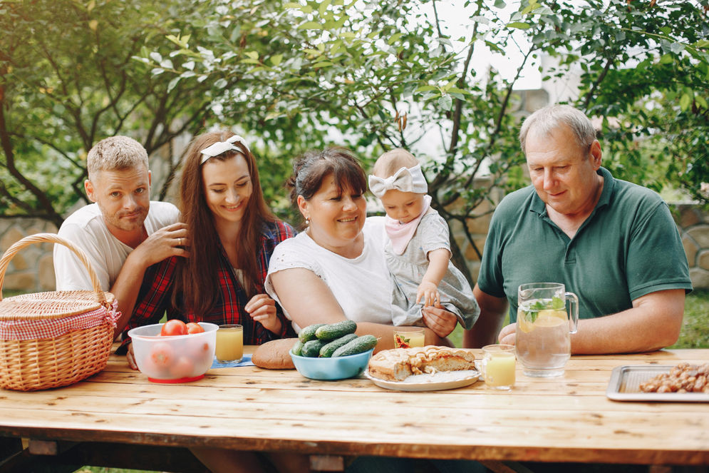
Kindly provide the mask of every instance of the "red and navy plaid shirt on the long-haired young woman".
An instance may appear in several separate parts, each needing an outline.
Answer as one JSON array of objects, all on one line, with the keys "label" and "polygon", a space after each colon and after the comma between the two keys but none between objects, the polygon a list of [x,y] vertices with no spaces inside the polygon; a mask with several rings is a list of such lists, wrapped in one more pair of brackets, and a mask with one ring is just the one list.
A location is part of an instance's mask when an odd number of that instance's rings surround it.
[{"label": "red and navy plaid shirt on the long-haired young woman", "polygon": [[[269,260],[276,245],[286,238],[295,235],[295,230],[287,223],[276,220],[264,224],[264,231],[259,249],[259,280],[257,280],[257,293],[266,293],[264,280],[269,269]],[[244,311],[244,305],[249,302],[249,297],[239,283],[232,269],[227,253],[219,243],[219,268],[217,280],[219,281],[219,297],[212,312],[198,317],[195,313],[186,312],[183,307],[172,306],[172,287],[175,283],[175,268],[177,256],[172,256],[160,263],[150,266],[145,270],[143,284],[140,286],[138,301],[133,310],[133,316],[128,320],[123,332],[123,340],[128,338],[128,330],[141,325],[160,322],[162,315],[167,311],[167,319],[180,319],[185,322],[212,322],[219,324],[241,324],[244,326],[244,345],[261,345],[269,340],[284,337],[294,337],[295,332],[290,320],[283,315],[281,306],[276,303],[276,316],[281,320],[281,332],[276,334],[264,328],[259,322],[254,321]]]}]

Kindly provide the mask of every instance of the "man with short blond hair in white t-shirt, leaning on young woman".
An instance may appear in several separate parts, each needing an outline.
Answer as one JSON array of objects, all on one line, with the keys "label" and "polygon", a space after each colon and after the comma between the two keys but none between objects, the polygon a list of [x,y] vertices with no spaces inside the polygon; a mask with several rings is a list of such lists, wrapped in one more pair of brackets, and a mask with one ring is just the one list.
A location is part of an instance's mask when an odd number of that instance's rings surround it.
[{"label": "man with short blond hair in white t-shirt, leaning on young woman", "polygon": [[[127,136],[105,138],[86,158],[86,195],[93,202],[71,214],[58,235],[86,253],[101,289],[118,301],[119,334],[133,312],[145,270],[187,255],[187,229],[175,205],[150,201],[148,153]],[[88,270],[63,245],[54,246],[57,290],[92,290]]]}]

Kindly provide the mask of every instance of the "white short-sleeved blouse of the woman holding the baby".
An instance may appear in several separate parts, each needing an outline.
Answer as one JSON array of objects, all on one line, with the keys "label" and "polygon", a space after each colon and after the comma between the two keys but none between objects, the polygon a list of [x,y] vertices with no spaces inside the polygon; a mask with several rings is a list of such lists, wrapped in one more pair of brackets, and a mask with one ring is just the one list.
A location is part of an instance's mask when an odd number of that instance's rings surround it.
[{"label": "white short-sleeved blouse of the woman holding the baby", "polygon": [[[352,259],[326,250],[305,232],[282,241],[271,255],[266,292],[280,303],[271,283],[271,274],[305,268],[325,282],[349,320],[392,325],[391,280],[384,258],[384,218],[367,218],[362,233],[362,254]],[[285,310],[284,313],[291,319]],[[294,328],[300,330],[295,324]]]}]

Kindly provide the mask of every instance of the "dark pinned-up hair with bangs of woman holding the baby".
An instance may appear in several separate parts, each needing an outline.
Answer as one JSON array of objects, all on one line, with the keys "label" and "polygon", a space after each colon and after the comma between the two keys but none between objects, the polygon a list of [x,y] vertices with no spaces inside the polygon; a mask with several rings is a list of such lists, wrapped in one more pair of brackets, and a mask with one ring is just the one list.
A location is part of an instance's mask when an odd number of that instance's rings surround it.
[{"label": "dark pinned-up hair with bangs of woman holding the baby", "polygon": [[293,174],[286,181],[291,188],[291,203],[298,207],[298,196],[310,200],[326,177],[333,176],[339,191],[350,187],[359,193],[367,191],[367,177],[352,151],[331,146],[323,151],[306,151],[293,163]]}]

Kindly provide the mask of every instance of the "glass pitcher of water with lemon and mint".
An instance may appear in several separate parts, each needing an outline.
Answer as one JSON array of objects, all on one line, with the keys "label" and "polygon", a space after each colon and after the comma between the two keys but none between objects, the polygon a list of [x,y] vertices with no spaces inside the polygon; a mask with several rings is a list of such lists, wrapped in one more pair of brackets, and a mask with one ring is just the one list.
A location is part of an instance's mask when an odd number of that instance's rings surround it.
[{"label": "glass pitcher of water with lemon and mint", "polygon": [[[566,312],[568,301],[571,317]],[[522,284],[517,290],[517,360],[524,375],[564,374],[571,357],[571,333],[579,325],[579,297],[559,283]]]}]

